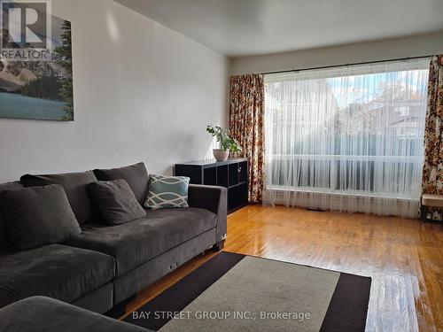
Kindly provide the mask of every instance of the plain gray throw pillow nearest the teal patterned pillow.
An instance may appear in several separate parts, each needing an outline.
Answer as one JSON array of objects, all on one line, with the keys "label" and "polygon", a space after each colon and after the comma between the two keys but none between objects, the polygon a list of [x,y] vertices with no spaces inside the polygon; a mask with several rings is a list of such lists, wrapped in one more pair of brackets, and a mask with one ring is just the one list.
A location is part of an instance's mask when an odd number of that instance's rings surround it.
[{"label": "plain gray throw pillow nearest the teal patterned pillow", "polygon": [[125,180],[89,184],[89,196],[106,225],[119,225],[144,217],[146,212]]}]

